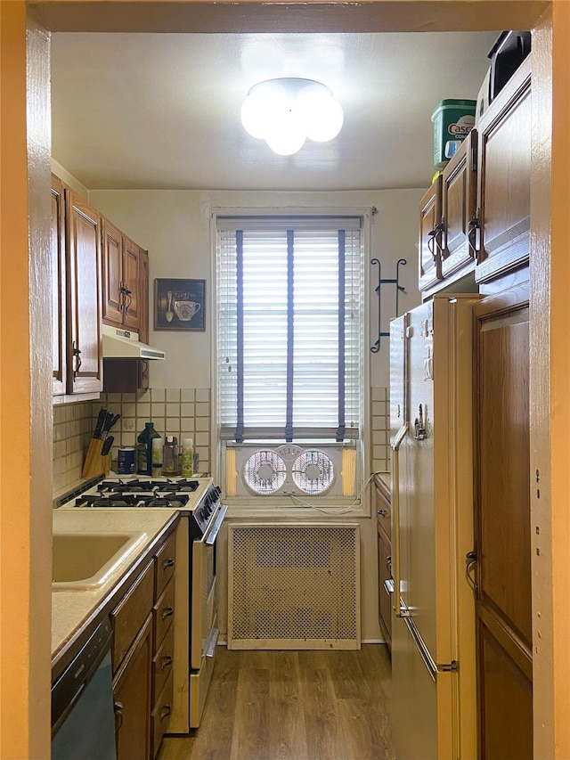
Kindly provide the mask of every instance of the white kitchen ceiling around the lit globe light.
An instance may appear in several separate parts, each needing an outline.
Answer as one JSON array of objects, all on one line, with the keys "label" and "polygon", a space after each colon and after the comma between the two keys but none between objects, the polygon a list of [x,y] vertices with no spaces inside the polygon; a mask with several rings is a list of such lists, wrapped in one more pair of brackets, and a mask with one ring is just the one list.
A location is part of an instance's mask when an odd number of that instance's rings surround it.
[{"label": "white kitchen ceiling around the lit globe light", "polygon": [[[53,158],[92,190],[427,186],[431,114],[476,99],[498,35],[55,33]],[[340,135],[290,157],[250,137],[241,102],[274,77],[329,86]]]}]

